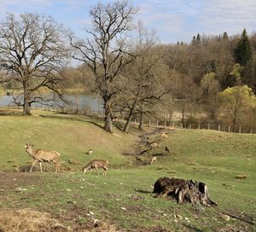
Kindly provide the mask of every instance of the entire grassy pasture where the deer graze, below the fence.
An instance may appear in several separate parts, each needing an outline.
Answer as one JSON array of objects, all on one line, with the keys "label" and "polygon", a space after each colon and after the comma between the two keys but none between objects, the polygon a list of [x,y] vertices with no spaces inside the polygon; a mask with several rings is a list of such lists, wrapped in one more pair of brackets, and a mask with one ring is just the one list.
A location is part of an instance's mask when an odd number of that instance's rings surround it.
[{"label": "entire grassy pasture where the deer graze, below the fence", "polygon": [[[154,133],[149,139],[160,141],[160,147],[143,155],[145,162],[138,165],[127,153],[137,149],[143,132],[132,130],[128,135],[115,129],[109,135],[102,131],[101,121],[88,118],[39,111],[30,117],[0,113],[0,231],[27,231],[26,218],[31,231],[255,229],[256,135],[176,130],[160,140]],[[13,172],[31,165],[23,148],[26,142],[60,152],[61,173],[55,175],[50,164],[43,165],[43,173]],[[90,148],[93,158],[85,154]],[[151,155],[157,156],[157,163],[144,165]],[[94,158],[109,160],[107,177],[95,171],[82,175],[82,166]],[[154,198],[151,193],[159,177],[207,183],[218,206]],[[38,219],[43,216],[43,221]]]}]

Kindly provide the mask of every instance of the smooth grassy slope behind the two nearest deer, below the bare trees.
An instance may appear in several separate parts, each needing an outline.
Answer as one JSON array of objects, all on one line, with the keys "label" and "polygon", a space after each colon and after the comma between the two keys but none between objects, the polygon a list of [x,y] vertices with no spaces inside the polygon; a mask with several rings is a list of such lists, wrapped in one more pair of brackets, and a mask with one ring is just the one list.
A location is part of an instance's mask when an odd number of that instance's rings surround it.
[{"label": "smooth grassy slope behind the two nearest deer, below the bare trees", "polygon": [[[10,168],[13,163],[24,165],[32,160],[25,152],[26,142],[34,149],[55,150],[62,160],[74,159],[81,164],[91,157],[85,153],[94,150],[94,158],[108,159],[112,165],[122,165],[127,159],[122,155],[135,141],[133,136],[117,131],[110,135],[100,128],[102,122],[88,121],[87,118],[53,117],[53,113],[34,111],[33,116],[0,117],[0,166]],[[9,161],[11,161],[9,163]]]}]

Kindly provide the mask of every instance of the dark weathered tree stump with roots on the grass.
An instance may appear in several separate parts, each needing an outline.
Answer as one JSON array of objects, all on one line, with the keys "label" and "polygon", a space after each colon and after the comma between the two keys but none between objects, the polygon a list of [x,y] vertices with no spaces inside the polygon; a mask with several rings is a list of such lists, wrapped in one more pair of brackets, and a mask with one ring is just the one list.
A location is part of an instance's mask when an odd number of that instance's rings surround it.
[{"label": "dark weathered tree stump with roots on the grass", "polygon": [[153,194],[159,197],[171,196],[180,204],[190,202],[203,206],[218,206],[209,198],[207,185],[193,180],[160,177],[154,183]]}]

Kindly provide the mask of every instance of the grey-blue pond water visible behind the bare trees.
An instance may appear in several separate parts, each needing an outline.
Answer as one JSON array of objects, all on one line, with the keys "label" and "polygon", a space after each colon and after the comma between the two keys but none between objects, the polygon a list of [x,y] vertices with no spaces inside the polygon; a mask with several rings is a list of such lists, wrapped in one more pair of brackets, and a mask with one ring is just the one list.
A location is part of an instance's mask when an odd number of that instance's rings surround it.
[{"label": "grey-blue pond water visible behind the bare trees", "polygon": [[[66,98],[70,102],[67,107],[102,112],[102,102],[96,96],[69,95]],[[0,96],[0,106],[8,105],[14,105],[13,96]],[[32,103],[32,107],[41,106],[39,103]]]}]

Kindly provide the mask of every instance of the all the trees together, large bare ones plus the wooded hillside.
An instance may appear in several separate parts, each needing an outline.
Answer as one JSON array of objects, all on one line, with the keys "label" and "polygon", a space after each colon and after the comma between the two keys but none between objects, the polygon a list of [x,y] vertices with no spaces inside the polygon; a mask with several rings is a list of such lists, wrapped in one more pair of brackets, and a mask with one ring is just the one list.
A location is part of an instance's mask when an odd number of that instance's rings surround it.
[{"label": "all the trees together, large bare ones plus the wooded hillside", "polygon": [[[125,119],[125,132],[134,119],[140,129],[150,119],[256,130],[255,32],[198,33],[191,43],[160,44],[134,14],[129,1],[99,3],[90,10],[84,38],[51,17],[8,14],[0,26],[0,82],[23,90],[15,103],[24,114],[33,102],[65,102],[67,89],[99,96],[109,132],[116,117]],[[79,65],[68,66],[72,60]],[[52,98],[38,96],[42,88]]]}]

